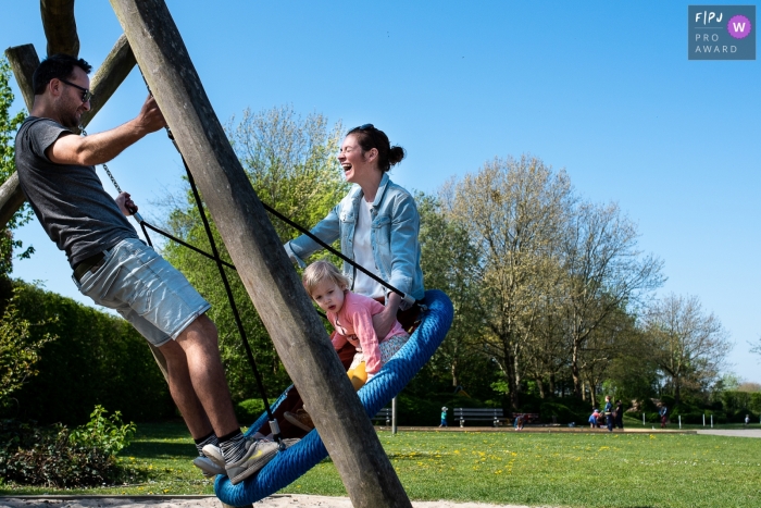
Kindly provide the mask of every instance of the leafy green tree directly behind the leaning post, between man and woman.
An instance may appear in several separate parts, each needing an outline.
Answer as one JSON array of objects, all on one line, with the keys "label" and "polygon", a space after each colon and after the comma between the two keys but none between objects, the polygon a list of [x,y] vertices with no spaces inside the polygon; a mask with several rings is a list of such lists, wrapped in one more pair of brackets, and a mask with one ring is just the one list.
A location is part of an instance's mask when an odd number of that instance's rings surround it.
[{"label": "leafy green tree directly behind the leaning post, between man and woman", "polygon": [[[340,123],[328,128],[327,120],[321,114],[302,119],[292,108],[280,107],[259,113],[246,110],[242,120],[237,124],[232,120],[226,131],[259,198],[296,223],[311,227],[346,194],[348,184],[335,159],[342,131]],[[166,228],[210,251],[189,190],[184,196],[171,197],[167,203]],[[230,262],[211,215],[207,218],[222,258]],[[275,219],[273,224],[284,243],[299,234],[279,220]],[[233,397],[239,400],[258,396],[216,265],[175,244],[167,244],[164,255],[212,305],[210,315],[220,332],[220,350]],[[279,391],[289,383],[288,375],[239,277],[232,270],[227,276],[264,384],[267,391]]]}]

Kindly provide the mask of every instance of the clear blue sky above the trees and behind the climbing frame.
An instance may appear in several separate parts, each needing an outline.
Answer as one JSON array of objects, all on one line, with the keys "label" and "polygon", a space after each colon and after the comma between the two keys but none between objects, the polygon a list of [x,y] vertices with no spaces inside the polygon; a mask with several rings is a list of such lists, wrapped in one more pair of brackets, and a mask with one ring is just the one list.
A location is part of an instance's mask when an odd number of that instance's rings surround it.
[{"label": "clear blue sky above the trees and behind the climbing frame", "polygon": [[[641,250],[664,262],[659,294],[697,296],[735,344],[727,371],[761,382],[748,345],[761,336],[761,67],[688,60],[688,3],[166,3],[223,123],[288,104],[386,132],[408,151],[391,173],[408,189],[435,193],[495,157],[531,153],[584,199],[617,202]],[[2,13],[0,48],[46,53],[37,2]],[[79,55],[97,69],[122,27],[102,0],[77,0],[75,16]],[[135,70],[88,132],[130,120],[146,95]],[[109,168],[148,220],[182,188],[161,132]],[[16,237],[36,253],[14,276],[90,303],[36,221]]]}]

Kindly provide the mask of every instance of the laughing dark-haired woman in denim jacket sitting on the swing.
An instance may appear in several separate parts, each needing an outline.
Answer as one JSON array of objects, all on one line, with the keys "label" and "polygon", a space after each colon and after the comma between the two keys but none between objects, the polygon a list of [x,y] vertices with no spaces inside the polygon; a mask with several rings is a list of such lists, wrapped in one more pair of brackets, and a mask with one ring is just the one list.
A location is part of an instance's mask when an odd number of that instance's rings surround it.
[{"label": "laughing dark-haired woman in denim jacket sitting on the swing", "polygon": [[[425,296],[423,271],[420,267],[420,214],[412,195],[388,177],[388,171],[404,158],[404,149],[390,146],[388,136],[365,124],[352,128],[341,144],[338,162],[346,181],[354,184],[349,193],[325,219],[312,228],[312,234],[326,244],[340,238],[341,253],[374,273],[400,292],[389,290],[351,264],[345,262],[344,274],[350,280],[354,293],[375,298],[385,309],[373,317],[373,327],[378,336],[388,334],[399,320],[402,327],[412,333],[420,309],[417,302]],[[304,260],[322,247],[305,235],[288,241],[286,252],[294,262],[304,265]],[[348,368],[355,349],[350,344],[338,351]],[[300,396],[291,389],[275,413],[302,432],[314,428],[309,414],[301,410]],[[286,422],[283,435],[298,437]]]}]

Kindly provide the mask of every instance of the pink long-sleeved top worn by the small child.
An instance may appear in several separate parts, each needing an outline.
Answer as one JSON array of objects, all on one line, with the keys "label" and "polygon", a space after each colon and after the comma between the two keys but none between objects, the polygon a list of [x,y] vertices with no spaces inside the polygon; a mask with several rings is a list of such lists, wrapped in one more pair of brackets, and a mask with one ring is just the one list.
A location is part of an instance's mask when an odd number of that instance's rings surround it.
[{"label": "pink long-sleeved top worn by the small child", "polygon": [[346,292],[345,295],[341,310],[338,313],[327,312],[327,319],[336,329],[333,335],[333,347],[338,350],[347,342],[351,343],[362,350],[365,372],[375,374],[383,367],[378,344],[394,335],[404,333],[404,329],[397,321],[383,340],[378,340],[373,329],[373,315],[380,313],[385,307],[364,295],[351,292]]}]

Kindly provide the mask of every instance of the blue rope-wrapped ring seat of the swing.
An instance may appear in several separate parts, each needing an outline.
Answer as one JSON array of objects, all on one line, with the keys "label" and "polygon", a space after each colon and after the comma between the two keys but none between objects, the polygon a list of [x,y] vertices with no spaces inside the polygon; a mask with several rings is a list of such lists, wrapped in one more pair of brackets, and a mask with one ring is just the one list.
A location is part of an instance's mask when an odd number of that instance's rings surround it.
[{"label": "blue rope-wrapped ring seat of the swing", "polygon": [[[424,303],[428,310],[423,313],[417,330],[378,374],[357,393],[371,418],[407,386],[436,351],[452,324],[452,302],[442,292],[426,292]],[[273,410],[285,399],[289,389],[274,402]],[[254,434],[264,423],[266,413],[249,428],[246,435]],[[237,485],[233,485],[227,476],[216,476],[214,492],[226,505],[250,505],[289,485],[325,457],[327,449],[320,434],[313,430],[296,445],[279,451],[258,474]]]}]

